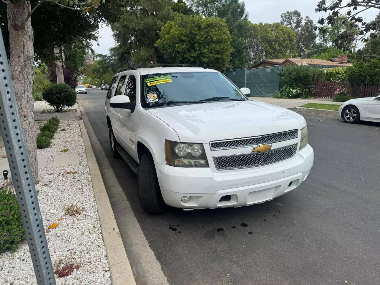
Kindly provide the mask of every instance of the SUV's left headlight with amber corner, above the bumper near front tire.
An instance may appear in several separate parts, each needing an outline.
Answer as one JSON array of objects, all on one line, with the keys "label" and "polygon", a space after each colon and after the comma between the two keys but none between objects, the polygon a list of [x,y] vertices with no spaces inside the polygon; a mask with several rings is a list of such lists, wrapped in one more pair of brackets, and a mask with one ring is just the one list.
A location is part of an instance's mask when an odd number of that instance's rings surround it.
[{"label": "SUV's left headlight with amber corner, above the bumper near front tire", "polygon": [[203,144],[165,140],[166,164],[177,167],[209,167]]}]

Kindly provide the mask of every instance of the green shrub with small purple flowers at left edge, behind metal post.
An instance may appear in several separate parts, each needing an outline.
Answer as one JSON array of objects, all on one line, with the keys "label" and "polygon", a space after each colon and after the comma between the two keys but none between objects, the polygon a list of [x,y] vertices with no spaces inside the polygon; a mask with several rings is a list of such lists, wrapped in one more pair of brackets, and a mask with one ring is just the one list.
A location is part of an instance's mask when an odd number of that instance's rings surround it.
[{"label": "green shrub with small purple flowers at left edge, behind metal post", "polygon": [[0,188],[0,253],[15,251],[25,240],[17,197],[8,188]]}]

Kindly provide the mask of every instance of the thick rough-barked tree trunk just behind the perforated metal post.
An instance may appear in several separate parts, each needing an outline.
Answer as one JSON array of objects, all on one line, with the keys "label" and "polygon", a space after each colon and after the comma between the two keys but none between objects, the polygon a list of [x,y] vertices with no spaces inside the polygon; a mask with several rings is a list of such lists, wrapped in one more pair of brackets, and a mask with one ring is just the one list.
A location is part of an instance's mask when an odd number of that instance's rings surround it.
[{"label": "thick rough-barked tree trunk just behind the perforated metal post", "polygon": [[37,145],[36,127],[34,124],[34,100],[32,86],[34,77],[34,32],[30,18],[24,24],[24,19],[30,13],[30,2],[25,1],[7,4],[8,32],[9,32],[9,69],[16,95],[17,108],[24,133],[30,167],[34,181],[37,181]]}]

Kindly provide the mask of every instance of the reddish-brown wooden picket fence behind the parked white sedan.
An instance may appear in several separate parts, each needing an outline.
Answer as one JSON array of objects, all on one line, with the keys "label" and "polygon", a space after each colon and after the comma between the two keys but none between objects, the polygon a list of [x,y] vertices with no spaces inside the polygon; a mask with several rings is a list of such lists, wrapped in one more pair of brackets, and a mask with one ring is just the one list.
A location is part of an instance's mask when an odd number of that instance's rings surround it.
[{"label": "reddish-brown wooden picket fence behind the parked white sedan", "polygon": [[317,74],[314,73],[314,90],[315,93],[309,95],[317,98],[332,98],[337,89],[348,90],[348,93],[355,98],[375,97],[380,93],[380,85],[373,86],[351,86],[349,82],[330,82],[317,79]]}]

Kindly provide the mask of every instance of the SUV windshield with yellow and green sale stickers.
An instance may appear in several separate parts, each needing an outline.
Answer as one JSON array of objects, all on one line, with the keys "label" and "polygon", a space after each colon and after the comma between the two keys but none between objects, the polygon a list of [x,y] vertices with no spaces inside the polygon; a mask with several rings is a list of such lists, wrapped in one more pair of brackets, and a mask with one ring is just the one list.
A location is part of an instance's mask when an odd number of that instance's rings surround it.
[{"label": "SUV windshield with yellow and green sale stickers", "polygon": [[141,103],[144,108],[166,106],[169,103],[247,100],[239,89],[218,72],[155,73],[142,75],[141,79]]}]

